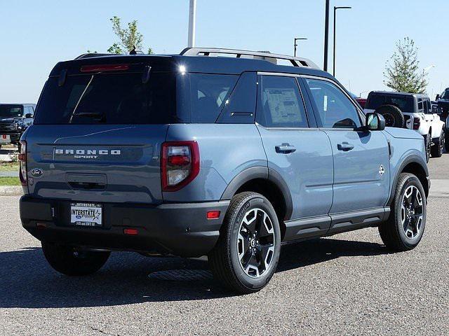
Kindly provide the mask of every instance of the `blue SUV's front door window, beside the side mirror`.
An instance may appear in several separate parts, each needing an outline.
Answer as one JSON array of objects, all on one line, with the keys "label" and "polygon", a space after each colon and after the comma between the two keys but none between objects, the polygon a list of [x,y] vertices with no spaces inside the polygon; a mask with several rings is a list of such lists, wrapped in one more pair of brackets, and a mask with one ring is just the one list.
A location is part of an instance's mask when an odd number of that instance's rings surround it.
[{"label": "blue SUV's front door window, beside the side mirror", "polygon": [[315,102],[321,127],[361,127],[356,106],[352,104],[342,90],[327,80],[307,79],[306,82]]}]

